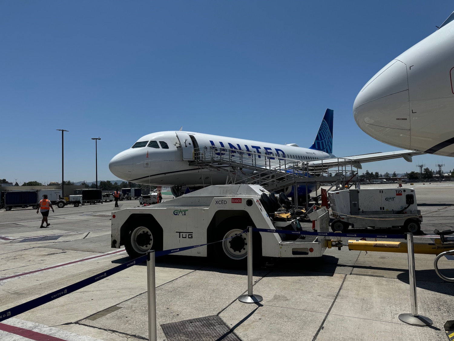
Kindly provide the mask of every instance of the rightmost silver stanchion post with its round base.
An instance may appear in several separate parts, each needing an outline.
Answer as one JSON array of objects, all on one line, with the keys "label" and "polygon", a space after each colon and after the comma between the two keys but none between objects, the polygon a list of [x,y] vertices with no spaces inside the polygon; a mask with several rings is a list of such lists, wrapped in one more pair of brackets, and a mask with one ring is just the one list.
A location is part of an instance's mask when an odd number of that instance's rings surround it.
[{"label": "rightmost silver stanchion post with its round base", "polygon": [[415,253],[413,251],[413,233],[407,235],[407,253],[408,253],[408,276],[410,281],[411,293],[411,313],[400,314],[399,320],[412,326],[431,326],[432,320],[429,317],[418,315],[418,299],[416,297],[416,278],[415,278]]}]

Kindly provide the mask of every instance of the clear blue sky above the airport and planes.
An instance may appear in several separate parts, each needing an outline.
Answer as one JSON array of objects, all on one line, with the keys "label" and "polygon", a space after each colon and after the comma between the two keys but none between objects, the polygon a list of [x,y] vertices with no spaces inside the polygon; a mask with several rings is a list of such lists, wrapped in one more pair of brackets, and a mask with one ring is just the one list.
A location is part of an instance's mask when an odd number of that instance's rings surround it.
[{"label": "clear blue sky above the airport and planes", "polygon": [[[183,130],[312,144],[334,110],[337,156],[397,150],[353,119],[362,86],[434,32],[452,1],[0,1],[0,179],[115,179],[141,136]],[[444,171],[454,158],[363,171]]]}]

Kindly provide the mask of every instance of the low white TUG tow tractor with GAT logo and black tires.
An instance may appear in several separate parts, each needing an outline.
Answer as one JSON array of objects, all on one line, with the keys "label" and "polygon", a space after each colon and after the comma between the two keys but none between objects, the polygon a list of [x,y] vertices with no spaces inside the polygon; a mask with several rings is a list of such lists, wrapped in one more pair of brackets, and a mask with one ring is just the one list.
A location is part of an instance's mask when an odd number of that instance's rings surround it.
[{"label": "low white TUG tow tractor with GAT logo and black tires", "polygon": [[[175,249],[211,243],[176,253],[210,256],[225,265],[244,264],[247,257],[248,226],[274,231],[297,231],[295,220],[275,224],[276,202],[258,185],[209,186],[153,206],[134,207],[112,212],[111,246],[124,245],[131,258],[148,250]],[[263,204],[266,199],[266,205]],[[266,209],[266,206],[269,209]],[[268,211],[268,212],[267,212]],[[279,226],[280,225],[280,226]],[[300,226],[301,229],[301,226]],[[327,232],[328,224],[319,232]],[[325,236],[302,236],[253,232],[254,259],[267,257],[321,257],[326,249]],[[227,239],[226,238],[230,238]],[[216,241],[220,241],[214,243]]]}]

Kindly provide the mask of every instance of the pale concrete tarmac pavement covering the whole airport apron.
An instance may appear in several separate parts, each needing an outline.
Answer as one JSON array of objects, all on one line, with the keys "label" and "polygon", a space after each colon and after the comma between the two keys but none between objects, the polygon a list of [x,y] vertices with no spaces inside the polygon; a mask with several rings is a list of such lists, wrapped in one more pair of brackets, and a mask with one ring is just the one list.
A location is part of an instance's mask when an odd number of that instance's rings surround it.
[{"label": "pale concrete tarmac pavement covering the whole airport apron", "polygon": [[[422,234],[454,228],[454,207],[446,208],[454,204],[454,184],[413,187],[423,214],[443,209],[424,216]],[[120,209],[138,205],[119,203]],[[47,229],[39,229],[40,215],[31,208],[1,210],[0,311],[127,262],[124,251],[110,248],[113,210],[113,202],[56,208]],[[393,232],[401,233],[387,231]],[[415,255],[418,312],[434,321],[428,327],[398,319],[411,312],[406,254],[343,247],[318,259],[268,259],[254,269],[253,291],[263,296],[258,304],[237,300],[247,292],[245,270],[198,257],[159,257],[158,340],[447,340],[443,325],[454,320],[454,285],[436,275],[434,257]],[[453,265],[439,261],[446,276],[454,277]],[[30,339],[148,340],[146,266],[0,322],[0,340]]]}]

